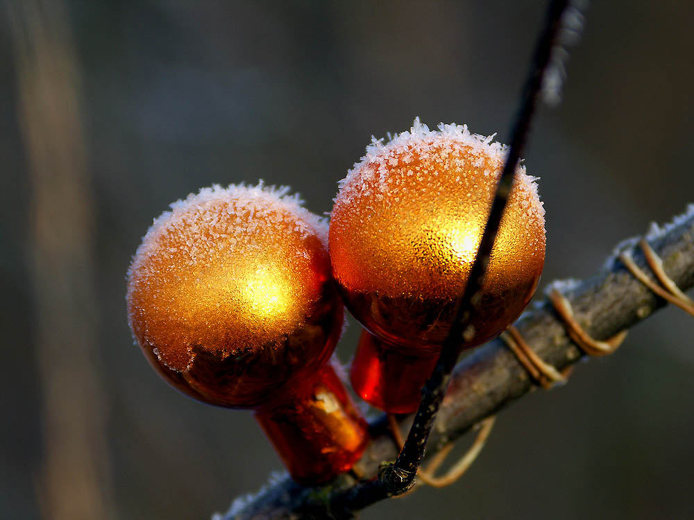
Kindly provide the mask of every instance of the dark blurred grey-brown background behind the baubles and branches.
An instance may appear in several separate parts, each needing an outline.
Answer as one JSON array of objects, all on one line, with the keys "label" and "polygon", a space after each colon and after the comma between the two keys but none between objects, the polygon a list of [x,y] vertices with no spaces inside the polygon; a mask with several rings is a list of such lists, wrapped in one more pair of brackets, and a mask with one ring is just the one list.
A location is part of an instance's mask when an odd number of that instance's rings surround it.
[{"label": "dark blurred grey-brown background behind the baubles and branches", "polygon": [[[250,413],[171,390],[133,346],[130,255],[212,183],[289,184],[330,211],[371,135],[415,116],[507,139],[544,6],[6,0],[0,517],[205,519],[280,469]],[[673,0],[589,8],[564,103],[526,154],[547,211],[541,287],[694,202],[693,16]],[[692,326],[654,315],[502,413],[455,485],[363,518],[693,517]]]}]

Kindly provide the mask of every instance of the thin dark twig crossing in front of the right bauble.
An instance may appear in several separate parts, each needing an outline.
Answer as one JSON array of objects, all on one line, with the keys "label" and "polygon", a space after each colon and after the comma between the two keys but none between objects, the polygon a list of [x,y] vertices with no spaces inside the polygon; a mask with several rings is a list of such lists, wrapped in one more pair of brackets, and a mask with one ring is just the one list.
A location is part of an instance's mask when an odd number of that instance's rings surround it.
[{"label": "thin dark twig crossing in front of the right bauble", "polygon": [[496,187],[489,218],[482,234],[482,241],[477,249],[475,260],[471,266],[467,284],[462,289],[457,304],[456,318],[443,343],[439,361],[432,376],[425,384],[422,401],[417,410],[412,428],[409,430],[403,449],[398,454],[394,464],[384,467],[378,478],[364,480],[352,487],[344,495],[336,496],[332,510],[338,516],[350,517],[354,511],[403,493],[412,487],[414,477],[424,456],[424,449],[431,433],[434,419],[441,406],[450,381],[450,374],[458,357],[461,338],[471,341],[475,337],[475,329],[471,327],[471,317],[477,312],[476,302],[480,301],[480,291],[484,282],[486,268],[489,265],[491,250],[499,230],[501,219],[511,193],[518,161],[525,148],[530,125],[536,112],[536,106],[541,94],[545,70],[550,62],[552,49],[561,31],[562,14],[568,6],[568,0],[552,0],[540,39],[536,45],[530,71],[523,87],[521,101],[516,114],[516,120],[511,127],[511,142],[501,177]]}]

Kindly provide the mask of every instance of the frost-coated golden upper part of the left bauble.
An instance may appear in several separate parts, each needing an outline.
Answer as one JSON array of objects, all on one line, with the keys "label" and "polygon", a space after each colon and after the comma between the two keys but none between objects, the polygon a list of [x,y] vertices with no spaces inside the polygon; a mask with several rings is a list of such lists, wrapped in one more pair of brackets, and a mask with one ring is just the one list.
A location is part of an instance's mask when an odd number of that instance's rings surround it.
[{"label": "frost-coated golden upper part of the left bauble", "polygon": [[128,270],[128,314],[166,367],[277,348],[303,329],[330,274],[327,225],[287,192],[214,185],[154,220]]}]

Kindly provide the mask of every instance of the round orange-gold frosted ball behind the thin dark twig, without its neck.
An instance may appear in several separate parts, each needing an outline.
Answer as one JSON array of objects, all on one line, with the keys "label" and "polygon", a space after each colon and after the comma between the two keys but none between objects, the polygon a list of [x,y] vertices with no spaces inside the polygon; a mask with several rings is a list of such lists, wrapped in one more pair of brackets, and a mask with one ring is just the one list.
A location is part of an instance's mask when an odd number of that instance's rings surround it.
[{"label": "round orange-gold frosted ball behind the thin dark twig, without its neck", "polygon": [[[348,309],[388,343],[435,349],[454,318],[501,175],[505,147],[466,126],[430,131],[414,121],[373,141],[341,181],[330,257]],[[545,258],[544,211],[525,167],[491,254],[464,347],[503,331],[530,301]]]}]

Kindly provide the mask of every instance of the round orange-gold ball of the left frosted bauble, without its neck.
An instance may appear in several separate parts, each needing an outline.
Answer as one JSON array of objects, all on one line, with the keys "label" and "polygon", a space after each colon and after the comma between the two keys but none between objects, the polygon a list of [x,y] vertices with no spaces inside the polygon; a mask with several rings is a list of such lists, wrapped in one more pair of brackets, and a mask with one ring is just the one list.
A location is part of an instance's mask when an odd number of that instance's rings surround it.
[{"label": "round orange-gold ball of the left frosted bauble, without its neck", "polygon": [[130,328],[176,388],[253,407],[330,358],[343,306],[325,223],[287,189],[219,186],[157,218],[128,271]]}]

